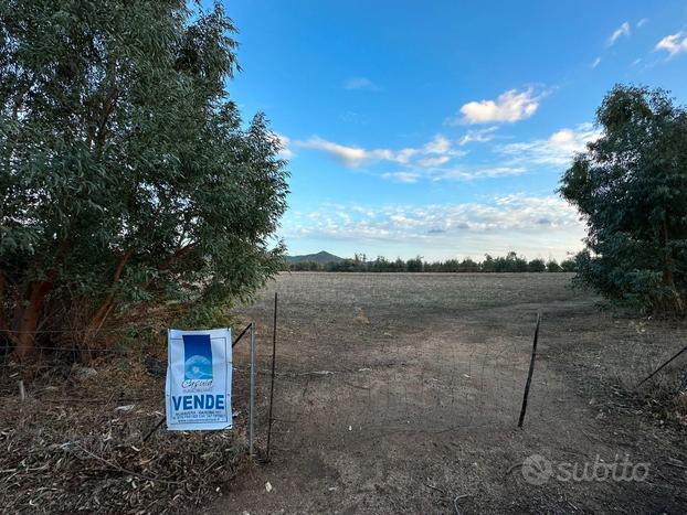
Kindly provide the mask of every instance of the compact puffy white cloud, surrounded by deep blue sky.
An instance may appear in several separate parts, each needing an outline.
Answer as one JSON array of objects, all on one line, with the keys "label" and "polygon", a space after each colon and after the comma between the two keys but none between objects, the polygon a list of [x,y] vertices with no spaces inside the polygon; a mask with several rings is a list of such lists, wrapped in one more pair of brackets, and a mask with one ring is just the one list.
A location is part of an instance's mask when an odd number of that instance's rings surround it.
[{"label": "compact puffy white cloud, surrounded by deep blue sky", "polygon": [[461,116],[446,120],[447,125],[514,122],[531,117],[539,107],[532,89],[510,89],[496,100],[474,100],[461,107]]}]

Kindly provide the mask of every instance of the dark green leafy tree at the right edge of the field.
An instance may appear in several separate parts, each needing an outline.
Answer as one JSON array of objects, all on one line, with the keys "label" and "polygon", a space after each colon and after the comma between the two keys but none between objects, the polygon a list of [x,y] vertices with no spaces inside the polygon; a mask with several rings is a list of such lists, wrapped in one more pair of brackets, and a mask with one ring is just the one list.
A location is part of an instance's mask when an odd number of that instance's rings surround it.
[{"label": "dark green leafy tree at the right edge of the field", "polygon": [[687,111],[664,90],[616,86],[596,121],[601,138],[560,187],[588,225],[578,280],[619,303],[684,313]]}]

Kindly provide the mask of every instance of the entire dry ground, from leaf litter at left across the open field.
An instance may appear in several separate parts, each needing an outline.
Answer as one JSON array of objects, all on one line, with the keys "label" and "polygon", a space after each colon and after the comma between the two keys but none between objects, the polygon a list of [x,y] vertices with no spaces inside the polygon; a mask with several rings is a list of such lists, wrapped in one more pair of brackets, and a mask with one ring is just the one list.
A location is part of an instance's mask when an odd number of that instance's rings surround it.
[{"label": "entire dry ground, from leaf litter at left across the open field", "polygon": [[[244,310],[267,369],[279,291],[273,462],[251,473],[241,473],[241,431],[161,428],[144,442],[163,411],[163,373],[146,364],[165,361],[161,339],[144,350],[131,336],[126,352],[89,365],[95,375],[41,369],[23,403],[18,376],[0,366],[0,505],[198,512],[231,485],[218,513],[445,513],[456,495],[469,495],[465,513],[681,513],[687,355],[632,389],[687,342],[687,325],[600,311],[568,285],[562,273],[281,276]],[[540,354],[520,431],[511,411],[538,309]],[[235,363],[246,358],[237,347]],[[234,409],[244,414],[246,377],[235,372]],[[267,379],[258,375],[263,416]],[[507,474],[535,453],[583,462],[619,452],[651,462],[651,482],[533,487]]]}]

